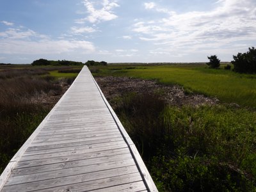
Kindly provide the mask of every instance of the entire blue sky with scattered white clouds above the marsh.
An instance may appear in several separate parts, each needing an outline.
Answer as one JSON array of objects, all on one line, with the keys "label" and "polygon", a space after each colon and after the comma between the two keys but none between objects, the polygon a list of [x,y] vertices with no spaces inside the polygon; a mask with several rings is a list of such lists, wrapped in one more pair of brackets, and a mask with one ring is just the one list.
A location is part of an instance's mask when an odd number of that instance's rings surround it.
[{"label": "entire blue sky with scattered white clouds above the marsh", "polygon": [[255,0],[0,0],[0,63],[231,61],[255,45]]}]

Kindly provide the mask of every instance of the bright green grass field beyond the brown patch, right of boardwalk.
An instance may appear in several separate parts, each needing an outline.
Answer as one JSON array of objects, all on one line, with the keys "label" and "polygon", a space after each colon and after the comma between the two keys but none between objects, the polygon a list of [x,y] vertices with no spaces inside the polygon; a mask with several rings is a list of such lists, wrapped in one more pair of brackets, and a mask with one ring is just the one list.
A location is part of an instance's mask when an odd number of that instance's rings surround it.
[{"label": "bright green grass field beyond the brown patch, right of boardwalk", "polygon": [[[156,79],[159,83],[179,84],[186,92],[217,97],[221,102],[256,108],[256,75],[237,74],[232,70],[210,69],[206,65],[160,65],[100,67],[96,76],[129,76]],[[92,70],[93,72],[93,70]]]}]

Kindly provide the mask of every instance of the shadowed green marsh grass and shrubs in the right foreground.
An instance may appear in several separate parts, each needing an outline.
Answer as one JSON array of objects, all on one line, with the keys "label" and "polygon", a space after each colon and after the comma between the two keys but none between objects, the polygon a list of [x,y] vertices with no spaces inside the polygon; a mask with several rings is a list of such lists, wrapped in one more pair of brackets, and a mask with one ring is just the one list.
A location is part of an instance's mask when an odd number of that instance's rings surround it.
[{"label": "shadowed green marsh grass and shrubs in the right foreground", "polygon": [[160,191],[253,191],[256,113],[225,105],[168,106],[129,93],[115,109]]}]

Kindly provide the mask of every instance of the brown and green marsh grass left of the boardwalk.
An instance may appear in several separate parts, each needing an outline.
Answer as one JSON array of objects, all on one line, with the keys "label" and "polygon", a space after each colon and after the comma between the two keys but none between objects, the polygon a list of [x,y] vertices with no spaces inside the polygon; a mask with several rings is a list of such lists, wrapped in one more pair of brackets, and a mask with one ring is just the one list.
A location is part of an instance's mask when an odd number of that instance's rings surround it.
[{"label": "brown and green marsh grass left of the boardwalk", "polygon": [[58,73],[72,67],[15,65],[1,69],[0,173],[77,76],[77,71],[68,76]]}]

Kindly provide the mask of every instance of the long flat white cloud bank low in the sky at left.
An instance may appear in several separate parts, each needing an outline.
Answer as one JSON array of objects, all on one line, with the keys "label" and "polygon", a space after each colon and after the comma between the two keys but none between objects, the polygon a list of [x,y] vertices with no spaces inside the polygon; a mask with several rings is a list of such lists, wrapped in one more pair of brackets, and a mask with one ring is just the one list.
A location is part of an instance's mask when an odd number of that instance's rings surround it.
[{"label": "long flat white cloud bank low in the sky at left", "polygon": [[93,52],[92,42],[83,40],[52,40],[31,29],[12,28],[0,32],[2,54],[60,54],[63,52]]}]

